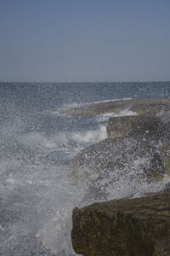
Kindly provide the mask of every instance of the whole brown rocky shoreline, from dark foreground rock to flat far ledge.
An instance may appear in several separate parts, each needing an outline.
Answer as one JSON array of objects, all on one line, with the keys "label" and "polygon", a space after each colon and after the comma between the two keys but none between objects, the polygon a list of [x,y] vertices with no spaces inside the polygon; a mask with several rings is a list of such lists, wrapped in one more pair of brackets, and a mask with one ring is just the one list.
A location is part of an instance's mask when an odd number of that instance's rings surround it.
[{"label": "whole brown rocky shoreline, from dark foreground rock to flat far ledge", "polygon": [[[108,138],[85,148],[71,162],[74,183],[86,183],[84,200],[101,200],[73,211],[72,245],[82,255],[170,255],[170,189],[137,199],[107,201],[117,183],[140,186],[170,177],[170,100],[101,102],[72,114],[119,113]],[[163,186],[162,186],[163,188]],[[161,189],[162,190],[162,189]]]}]

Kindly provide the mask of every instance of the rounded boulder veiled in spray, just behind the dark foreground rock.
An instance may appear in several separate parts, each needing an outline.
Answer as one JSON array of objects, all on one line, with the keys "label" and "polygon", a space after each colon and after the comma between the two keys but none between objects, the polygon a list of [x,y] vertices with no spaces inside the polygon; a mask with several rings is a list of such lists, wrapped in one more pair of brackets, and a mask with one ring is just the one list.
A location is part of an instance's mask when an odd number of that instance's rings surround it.
[{"label": "rounded boulder veiled in spray, just behind the dark foreground rock", "polygon": [[86,183],[94,199],[106,199],[116,183],[156,182],[164,173],[159,143],[145,137],[105,139],[77,154],[70,168],[74,183]]}]

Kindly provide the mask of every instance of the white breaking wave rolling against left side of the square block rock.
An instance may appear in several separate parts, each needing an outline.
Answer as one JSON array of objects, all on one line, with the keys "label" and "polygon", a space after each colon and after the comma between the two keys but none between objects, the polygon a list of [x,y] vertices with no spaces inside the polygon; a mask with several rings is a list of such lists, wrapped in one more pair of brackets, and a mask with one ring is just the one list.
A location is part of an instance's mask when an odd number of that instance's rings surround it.
[{"label": "white breaking wave rolling against left side of the square block rock", "polygon": [[99,125],[96,130],[56,132],[53,137],[47,137],[41,132],[32,132],[20,136],[18,141],[29,148],[46,151],[81,149],[87,144],[98,143],[107,137],[105,125]]}]

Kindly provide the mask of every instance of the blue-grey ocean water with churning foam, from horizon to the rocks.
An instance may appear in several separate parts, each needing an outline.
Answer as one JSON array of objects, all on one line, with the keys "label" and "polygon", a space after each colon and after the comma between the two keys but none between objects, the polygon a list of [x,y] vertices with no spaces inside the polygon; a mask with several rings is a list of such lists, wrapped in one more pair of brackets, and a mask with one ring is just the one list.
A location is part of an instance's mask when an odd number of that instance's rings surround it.
[{"label": "blue-grey ocean water with churning foam, from horizon to the rocks", "polygon": [[[76,255],[71,213],[82,205],[86,188],[71,182],[69,164],[83,148],[105,139],[111,113],[69,116],[61,110],[169,96],[170,82],[0,83],[0,255]],[[123,189],[120,184],[110,197],[121,197]]]}]

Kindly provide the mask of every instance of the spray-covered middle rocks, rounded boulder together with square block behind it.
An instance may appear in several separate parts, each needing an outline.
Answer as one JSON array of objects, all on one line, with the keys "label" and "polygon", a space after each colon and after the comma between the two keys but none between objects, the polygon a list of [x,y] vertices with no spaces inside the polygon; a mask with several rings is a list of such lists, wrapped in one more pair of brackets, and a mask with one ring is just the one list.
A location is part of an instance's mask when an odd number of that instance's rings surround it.
[{"label": "spray-covered middle rocks, rounded boulder together with square block behind it", "polygon": [[71,178],[88,184],[88,197],[106,199],[120,180],[150,183],[170,176],[167,113],[111,118],[107,134],[109,139],[85,148],[71,161]]}]

